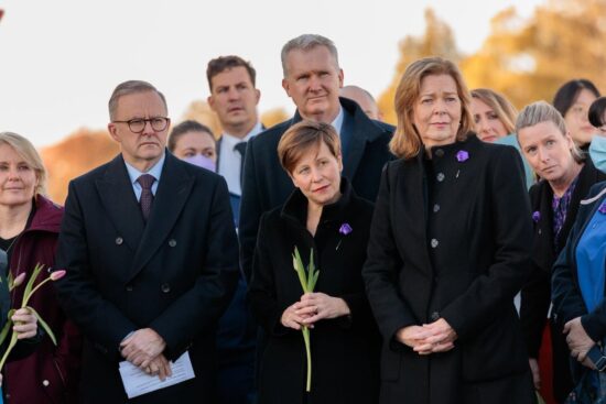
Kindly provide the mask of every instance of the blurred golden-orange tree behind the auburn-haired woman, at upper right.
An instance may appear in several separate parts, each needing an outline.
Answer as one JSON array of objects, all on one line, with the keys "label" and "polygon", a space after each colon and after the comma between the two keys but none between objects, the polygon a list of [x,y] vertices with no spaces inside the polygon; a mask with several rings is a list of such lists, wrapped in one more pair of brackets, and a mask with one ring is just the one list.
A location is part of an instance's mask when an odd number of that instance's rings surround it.
[{"label": "blurred golden-orange tree behind the auburn-haired woman, at upper right", "polygon": [[462,55],[450,26],[429,9],[423,36],[400,43],[396,77],[380,96],[386,120],[396,123],[393,95],[405,67],[420,57],[458,62],[469,89],[487,87],[518,108],[538,99],[551,101],[573,78],[588,78],[606,90],[606,0],[548,0],[531,18],[508,8],[490,21],[490,34],[473,55]]}]

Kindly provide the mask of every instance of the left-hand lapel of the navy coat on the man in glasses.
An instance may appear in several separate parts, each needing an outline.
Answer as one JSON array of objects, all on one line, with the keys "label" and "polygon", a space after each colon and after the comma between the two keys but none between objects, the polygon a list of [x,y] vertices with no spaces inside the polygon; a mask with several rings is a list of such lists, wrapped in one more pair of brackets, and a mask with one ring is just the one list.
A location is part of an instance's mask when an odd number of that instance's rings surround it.
[{"label": "left-hand lapel of the navy coat on the man in glasses", "polygon": [[109,163],[105,176],[97,181],[96,186],[101,205],[119,237],[136,251],[144,223],[122,155]]}]

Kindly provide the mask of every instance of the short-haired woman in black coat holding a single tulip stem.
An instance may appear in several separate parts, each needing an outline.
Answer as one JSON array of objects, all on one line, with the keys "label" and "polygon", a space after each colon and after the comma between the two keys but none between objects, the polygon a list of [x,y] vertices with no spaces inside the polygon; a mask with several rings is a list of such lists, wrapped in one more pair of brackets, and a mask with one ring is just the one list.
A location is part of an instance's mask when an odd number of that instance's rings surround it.
[{"label": "short-haired woman in black coat holding a single tulip stem", "polygon": [[[259,352],[259,403],[377,403],[380,338],[361,279],[372,205],[340,176],[332,125],[293,125],[278,154],[296,188],[284,206],[261,218],[248,291],[267,335]],[[312,258],[320,271],[313,292],[303,292],[293,267],[295,248],[303,266],[312,266]]]}]

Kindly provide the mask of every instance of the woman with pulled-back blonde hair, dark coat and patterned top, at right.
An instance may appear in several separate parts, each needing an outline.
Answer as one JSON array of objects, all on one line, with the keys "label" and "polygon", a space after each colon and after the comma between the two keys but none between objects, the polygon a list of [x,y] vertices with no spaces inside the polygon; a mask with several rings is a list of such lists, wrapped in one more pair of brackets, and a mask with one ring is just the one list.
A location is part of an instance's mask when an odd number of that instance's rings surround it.
[{"label": "woman with pulled-back blonde hair, dark coat and patterned top, at right", "polygon": [[[575,145],[563,117],[545,101],[527,106],[516,122],[526,160],[541,178],[530,188],[534,234],[532,276],[522,288],[520,319],[537,389],[541,385],[538,359],[551,304],[552,266],[564,249],[580,201],[606,175]],[[573,387],[563,324],[550,319],[553,395],[563,402]]]}]

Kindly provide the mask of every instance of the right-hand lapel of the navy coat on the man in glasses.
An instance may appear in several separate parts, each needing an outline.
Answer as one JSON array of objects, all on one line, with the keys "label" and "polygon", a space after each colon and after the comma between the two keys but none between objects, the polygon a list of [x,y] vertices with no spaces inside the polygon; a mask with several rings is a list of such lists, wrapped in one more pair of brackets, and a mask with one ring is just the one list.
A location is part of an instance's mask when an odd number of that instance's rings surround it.
[{"label": "right-hand lapel of the navy coat on the man in glasses", "polygon": [[148,225],[134,254],[128,281],[132,280],[153,256],[173,229],[192,192],[195,178],[166,153]]}]

